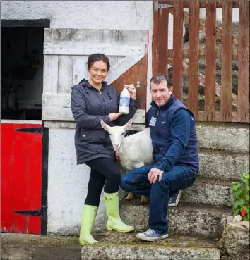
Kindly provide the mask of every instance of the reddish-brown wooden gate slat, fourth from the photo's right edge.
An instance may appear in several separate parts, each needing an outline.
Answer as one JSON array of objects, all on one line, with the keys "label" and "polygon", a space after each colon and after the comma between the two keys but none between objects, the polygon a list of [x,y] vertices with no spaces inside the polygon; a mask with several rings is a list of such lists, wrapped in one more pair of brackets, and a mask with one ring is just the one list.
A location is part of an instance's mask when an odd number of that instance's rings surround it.
[{"label": "reddish-brown wooden gate slat, fourth from the photo's right edge", "polygon": [[191,1],[189,7],[189,109],[198,118],[198,59],[199,59],[199,17],[198,1]]}]

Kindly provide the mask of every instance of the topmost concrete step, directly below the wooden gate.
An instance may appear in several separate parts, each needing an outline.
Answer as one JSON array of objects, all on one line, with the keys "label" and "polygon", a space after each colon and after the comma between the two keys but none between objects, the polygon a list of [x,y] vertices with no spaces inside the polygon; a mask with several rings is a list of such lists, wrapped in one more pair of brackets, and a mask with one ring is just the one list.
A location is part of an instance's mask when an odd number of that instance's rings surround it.
[{"label": "topmost concrete step, directly below the wooden gate", "polygon": [[201,149],[249,152],[248,123],[196,122],[196,132]]}]

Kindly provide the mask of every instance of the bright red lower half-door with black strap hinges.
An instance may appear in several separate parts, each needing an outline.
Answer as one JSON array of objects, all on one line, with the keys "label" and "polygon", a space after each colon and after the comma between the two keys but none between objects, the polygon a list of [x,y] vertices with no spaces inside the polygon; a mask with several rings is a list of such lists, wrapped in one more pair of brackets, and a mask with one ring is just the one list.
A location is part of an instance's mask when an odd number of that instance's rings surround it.
[{"label": "bright red lower half-door with black strap hinges", "polygon": [[41,234],[42,124],[1,123],[1,232]]}]

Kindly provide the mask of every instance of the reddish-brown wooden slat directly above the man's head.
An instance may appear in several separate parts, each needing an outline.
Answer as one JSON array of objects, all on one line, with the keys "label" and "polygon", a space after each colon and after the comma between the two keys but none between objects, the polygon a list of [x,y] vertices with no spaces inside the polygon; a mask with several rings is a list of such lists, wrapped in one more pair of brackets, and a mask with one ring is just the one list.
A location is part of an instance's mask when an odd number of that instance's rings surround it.
[{"label": "reddish-brown wooden slat directly above the man's head", "polygon": [[159,27],[158,27],[158,73],[167,74],[167,50],[168,50],[168,17],[169,9],[160,8],[159,10]]}]

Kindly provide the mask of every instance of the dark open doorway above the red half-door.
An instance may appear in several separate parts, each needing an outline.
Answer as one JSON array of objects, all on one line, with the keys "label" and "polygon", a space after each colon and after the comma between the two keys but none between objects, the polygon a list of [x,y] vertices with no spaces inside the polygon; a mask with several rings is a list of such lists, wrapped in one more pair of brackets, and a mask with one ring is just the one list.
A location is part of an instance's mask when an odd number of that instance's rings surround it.
[{"label": "dark open doorway above the red half-door", "polygon": [[[44,25],[1,24],[1,119],[41,120]],[[32,27],[35,25],[35,27]]]}]

